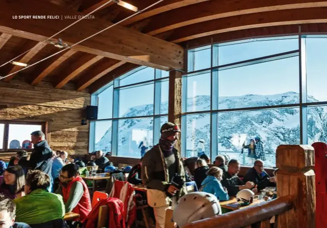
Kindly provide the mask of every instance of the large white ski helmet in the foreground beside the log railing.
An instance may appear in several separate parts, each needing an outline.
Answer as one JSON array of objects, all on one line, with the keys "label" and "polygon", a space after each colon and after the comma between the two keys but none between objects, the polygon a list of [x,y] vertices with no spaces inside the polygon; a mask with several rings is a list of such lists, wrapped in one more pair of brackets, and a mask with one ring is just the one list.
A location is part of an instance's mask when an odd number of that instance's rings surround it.
[{"label": "large white ski helmet in the foreground beside the log railing", "polygon": [[191,192],[181,197],[174,207],[173,220],[179,227],[192,221],[221,214],[217,197],[207,192]]}]

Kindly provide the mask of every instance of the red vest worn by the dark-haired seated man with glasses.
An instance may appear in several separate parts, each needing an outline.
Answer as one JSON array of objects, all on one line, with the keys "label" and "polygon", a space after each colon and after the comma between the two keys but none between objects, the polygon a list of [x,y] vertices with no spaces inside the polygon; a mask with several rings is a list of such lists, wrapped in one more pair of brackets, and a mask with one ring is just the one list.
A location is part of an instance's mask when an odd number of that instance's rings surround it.
[{"label": "red vest worn by the dark-haired seated man with glasses", "polygon": [[69,199],[71,187],[73,183],[77,181],[82,183],[84,192],[81,199],[79,200],[75,208],[72,210],[72,212],[78,213],[80,215],[80,220],[83,222],[92,209],[89,189],[87,188],[87,185],[84,182],[84,180],[80,176],[77,176],[72,181],[70,181],[66,186],[61,184],[61,190],[63,193],[64,203],[67,203]]}]

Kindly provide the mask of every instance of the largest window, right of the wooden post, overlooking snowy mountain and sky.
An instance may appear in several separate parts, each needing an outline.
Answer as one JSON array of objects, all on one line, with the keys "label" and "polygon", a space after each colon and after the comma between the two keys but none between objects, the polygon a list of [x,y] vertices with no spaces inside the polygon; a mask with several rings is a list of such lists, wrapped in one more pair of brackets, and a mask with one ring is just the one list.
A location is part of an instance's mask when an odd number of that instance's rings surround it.
[{"label": "largest window, right of the wooden post, overlooking snowy mountain and sky", "polygon": [[[326,142],[327,37],[289,36],[187,50],[182,152],[218,154],[253,165],[246,147],[261,138],[266,165],[280,144]],[[243,151],[243,153],[242,153]]]}]

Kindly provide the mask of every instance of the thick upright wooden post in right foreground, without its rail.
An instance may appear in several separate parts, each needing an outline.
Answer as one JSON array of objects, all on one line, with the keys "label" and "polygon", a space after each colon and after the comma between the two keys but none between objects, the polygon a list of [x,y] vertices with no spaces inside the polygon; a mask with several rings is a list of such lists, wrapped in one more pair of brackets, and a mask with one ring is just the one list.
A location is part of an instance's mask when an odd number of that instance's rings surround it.
[{"label": "thick upright wooden post in right foreground, without its rail", "polygon": [[280,145],[276,151],[277,196],[295,195],[294,208],[278,215],[278,228],[314,228],[314,150],[308,145]]}]

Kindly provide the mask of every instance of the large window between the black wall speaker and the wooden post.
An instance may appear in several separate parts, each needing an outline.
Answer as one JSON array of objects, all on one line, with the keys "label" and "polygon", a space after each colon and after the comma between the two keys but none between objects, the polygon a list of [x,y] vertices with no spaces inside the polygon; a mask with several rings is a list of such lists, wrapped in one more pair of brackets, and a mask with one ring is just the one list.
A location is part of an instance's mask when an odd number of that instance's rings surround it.
[{"label": "large window between the black wall speaker and the wooden post", "polygon": [[159,141],[160,126],[168,121],[169,74],[139,67],[116,78],[92,95],[98,120],[90,124],[89,151],[140,157]]}]

